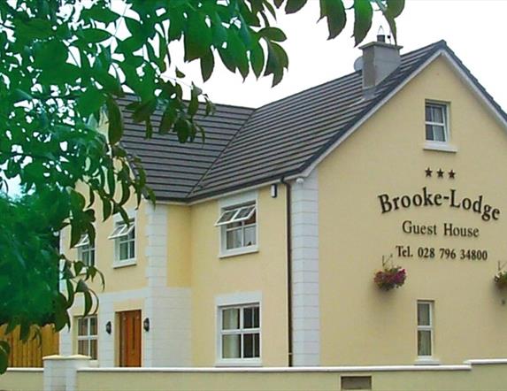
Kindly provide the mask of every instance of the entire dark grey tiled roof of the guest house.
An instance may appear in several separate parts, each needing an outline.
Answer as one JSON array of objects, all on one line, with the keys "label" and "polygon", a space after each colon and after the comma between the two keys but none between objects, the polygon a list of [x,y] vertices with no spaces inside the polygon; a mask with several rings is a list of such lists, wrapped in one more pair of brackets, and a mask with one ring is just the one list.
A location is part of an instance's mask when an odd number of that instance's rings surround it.
[{"label": "entire dark grey tiled roof of the guest house", "polygon": [[[204,144],[179,144],[173,135],[154,135],[146,141],[142,138],[143,127],[126,116],[124,145],[142,158],[148,184],[157,199],[188,202],[280,180],[303,172],[442,49],[507,119],[465,65],[440,41],[404,54],[401,65],[380,83],[371,99],[363,97],[359,71],[257,110],[218,104],[213,117],[200,119],[206,131]],[[154,121],[158,119],[155,116]]]}]

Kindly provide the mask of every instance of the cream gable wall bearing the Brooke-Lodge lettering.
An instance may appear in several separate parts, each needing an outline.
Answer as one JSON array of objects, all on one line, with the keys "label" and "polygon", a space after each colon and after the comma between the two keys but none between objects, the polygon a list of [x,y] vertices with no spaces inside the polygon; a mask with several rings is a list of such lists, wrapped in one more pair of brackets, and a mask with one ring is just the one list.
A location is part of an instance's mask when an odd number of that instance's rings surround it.
[{"label": "cream gable wall bearing the Brooke-Lodge lettering", "polygon": [[[457,153],[423,149],[426,99],[449,102]],[[437,59],[319,165],[321,364],[413,363],[418,299],[434,300],[434,357],[442,363],[507,357],[507,294],[493,284],[497,261],[507,260],[506,151],[505,130]],[[447,173],[426,178],[427,167],[452,169],[456,179]],[[483,195],[502,214],[489,222],[449,206],[381,214],[380,194],[413,195],[423,187]],[[440,232],[403,234],[404,220],[436,224]],[[444,237],[444,222],[477,227],[480,237]],[[419,247],[487,249],[488,260],[397,257],[397,244],[410,245],[412,253]],[[408,278],[402,288],[383,292],[373,274],[389,254]]]}]

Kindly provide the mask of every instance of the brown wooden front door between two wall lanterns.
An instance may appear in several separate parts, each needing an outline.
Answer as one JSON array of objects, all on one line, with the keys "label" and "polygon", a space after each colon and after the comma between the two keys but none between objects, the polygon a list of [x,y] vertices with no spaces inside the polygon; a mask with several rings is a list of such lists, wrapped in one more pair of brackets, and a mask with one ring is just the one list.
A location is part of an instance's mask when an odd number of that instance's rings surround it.
[{"label": "brown wooden front door between two wall lanterns", "polygon": [[141,366],[141,311],[119,312],[119,366]]}]

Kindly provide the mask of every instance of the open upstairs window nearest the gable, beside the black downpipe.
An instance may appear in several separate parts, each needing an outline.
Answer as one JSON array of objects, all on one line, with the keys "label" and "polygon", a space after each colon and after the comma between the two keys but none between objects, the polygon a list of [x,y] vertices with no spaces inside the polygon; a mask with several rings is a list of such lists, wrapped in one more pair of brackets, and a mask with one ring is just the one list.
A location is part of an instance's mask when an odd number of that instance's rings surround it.
[{"label": "open upstairs window nearest the gable, beside the black downpipe", "polygon": [[224,208],[215,223],[221,229],[222,250],[249,249],[257,245],[257,206],[246,203]]}]

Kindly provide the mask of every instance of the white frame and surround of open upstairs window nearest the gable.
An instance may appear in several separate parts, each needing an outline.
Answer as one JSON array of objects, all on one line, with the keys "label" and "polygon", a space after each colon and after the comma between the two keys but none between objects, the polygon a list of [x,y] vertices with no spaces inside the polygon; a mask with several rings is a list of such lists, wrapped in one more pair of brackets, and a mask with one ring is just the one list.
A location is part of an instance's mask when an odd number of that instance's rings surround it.
[{"label": "white frame and surround of open upstairs window nearest the gable", "polygon": [[[250,206],[255,208],[250,211],[249,214],[239,217],[241,211],[246,211]],[[225,212],[235,210],[234,215],[226,221],[220,222]],[[255,237],[256,243],[250,246],[242,246],[235,249],[227,249],[227,225],[243,222],[251,218],[253,213],[256,213],[255,223]],[[256,192],[243,193],[241,195],[227,197],[219,201],[219,218],[215,222],[215,226],[219,228],[219,257],[234,257],[242,254],[248,254],[258,251],[259,237],[258,237],[258,226],[259,226],[259,208],[258,208],[258,194]]]}]

